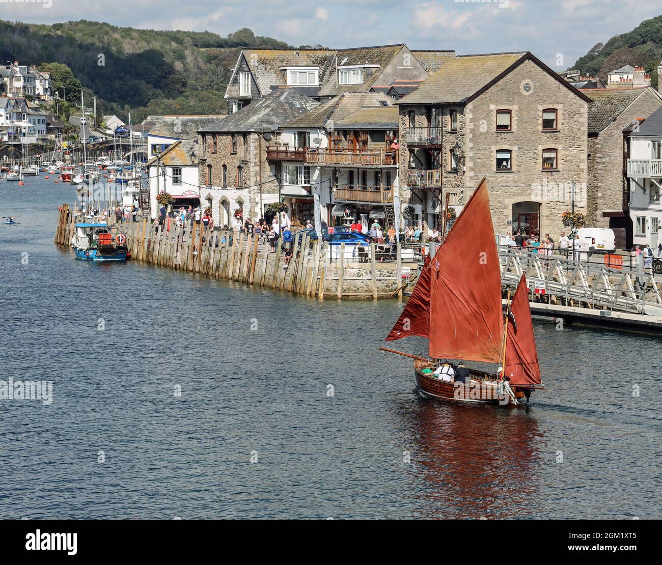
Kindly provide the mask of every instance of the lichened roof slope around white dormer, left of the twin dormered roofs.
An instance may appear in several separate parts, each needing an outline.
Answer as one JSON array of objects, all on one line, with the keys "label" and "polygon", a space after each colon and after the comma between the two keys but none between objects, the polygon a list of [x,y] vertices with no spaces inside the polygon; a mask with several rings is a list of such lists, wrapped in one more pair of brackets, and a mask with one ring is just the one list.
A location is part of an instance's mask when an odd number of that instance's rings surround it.
[{"label": "lichened roof slope around white dormer, left of the twin dormered roofs", "polygon": [[320,67],[321,82],[336,52],[327,49],[244,49],[242,54],[258,83],[261,95],[266,96],[272,86],[287,85],[287,78],[281,67]]}]

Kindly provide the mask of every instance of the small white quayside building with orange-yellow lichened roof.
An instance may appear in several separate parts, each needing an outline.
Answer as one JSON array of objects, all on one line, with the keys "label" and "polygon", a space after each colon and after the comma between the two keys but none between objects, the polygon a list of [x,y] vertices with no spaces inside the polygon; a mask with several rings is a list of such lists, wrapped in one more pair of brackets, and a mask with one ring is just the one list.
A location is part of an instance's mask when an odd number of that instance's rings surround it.
[{"label": "small white quayside building with orange-yellow lichened roof", "polygon": [[200,205],[199,154],[197,141],[176,141],[148,161],[152,218],[156,218],[161,206],[156,202],[159,193],[166,192],[173,196],[173,208],[195,208]]}]

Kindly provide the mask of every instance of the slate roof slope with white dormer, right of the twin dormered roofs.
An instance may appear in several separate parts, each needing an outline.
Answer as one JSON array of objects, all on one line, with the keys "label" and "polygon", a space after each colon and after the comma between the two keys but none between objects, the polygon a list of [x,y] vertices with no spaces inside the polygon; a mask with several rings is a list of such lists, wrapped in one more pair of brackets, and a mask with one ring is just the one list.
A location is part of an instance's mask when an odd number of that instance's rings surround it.
[{"label": "slate roof slope with white dormer, right of the twin dormered roofs", "polygon": [[[320,96],[334,96],[342,92],[367,92],[379,79],[385,67],[402,50],[404,43],[398,45],[383,45],[378,47],[360,47],[356,49],[340,49],[336,52],[334,62],[325,73],[324,81],[320,74]],[[339,85],[337,68],[348,65],[379,65],[373,69],[370,77],[359,85]]]}]

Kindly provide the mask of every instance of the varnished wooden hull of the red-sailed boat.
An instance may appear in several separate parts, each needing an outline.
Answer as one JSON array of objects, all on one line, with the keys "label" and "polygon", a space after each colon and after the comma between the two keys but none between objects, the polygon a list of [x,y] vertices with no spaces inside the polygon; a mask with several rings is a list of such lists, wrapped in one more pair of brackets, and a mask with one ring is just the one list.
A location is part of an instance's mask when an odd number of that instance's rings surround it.
[{"label": "varnished wooden hull of the red-sailed boat", "polygon": [[[485,372],[469,370],[471,379],[467,384],[461,382],[446,382],[434,374],[426,374],[423,369],[434,365],[428,361],[414,361],[414,377],[421,392],[438,400],[459,402],[465,404],[510,404],[508,396],[499,390],[496,380]],[[522,398],[524,393],[515,391],[516,398]]]}]

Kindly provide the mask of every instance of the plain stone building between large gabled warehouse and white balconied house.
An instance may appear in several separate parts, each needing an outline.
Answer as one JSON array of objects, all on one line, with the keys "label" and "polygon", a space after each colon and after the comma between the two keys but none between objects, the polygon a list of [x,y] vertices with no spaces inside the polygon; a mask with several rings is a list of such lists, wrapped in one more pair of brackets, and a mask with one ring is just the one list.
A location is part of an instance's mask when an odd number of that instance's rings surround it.
[{"label": "plain stone building between large gabled warehouse and white balconied house", "polygon": [[633,226],[628,212],[628,133],[634,120],[662,107],[649,86],[583,91],[589,98],[589,202],[587,225],[612,228],[616,245],[629,249]]}]

